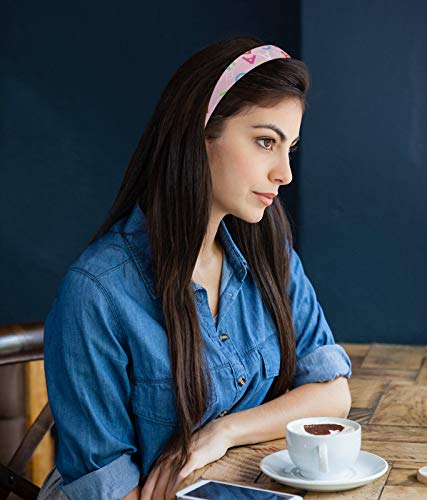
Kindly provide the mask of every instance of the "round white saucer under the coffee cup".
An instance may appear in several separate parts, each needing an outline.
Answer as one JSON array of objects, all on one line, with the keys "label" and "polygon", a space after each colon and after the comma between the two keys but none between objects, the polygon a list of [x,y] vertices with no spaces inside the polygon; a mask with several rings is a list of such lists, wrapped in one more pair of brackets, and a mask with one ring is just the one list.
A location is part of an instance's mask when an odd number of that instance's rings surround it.
[{"label": "round white saucer under the coffee cup", "polygon": [[267,455],[261,460],[259,466],[264,474],[279,483],[309,491],[350,490],[370,483],[388,470],[388,463],[383,458],[362,450],[348,474],[339,479],[305,478],[290,459],[288,450]]}]

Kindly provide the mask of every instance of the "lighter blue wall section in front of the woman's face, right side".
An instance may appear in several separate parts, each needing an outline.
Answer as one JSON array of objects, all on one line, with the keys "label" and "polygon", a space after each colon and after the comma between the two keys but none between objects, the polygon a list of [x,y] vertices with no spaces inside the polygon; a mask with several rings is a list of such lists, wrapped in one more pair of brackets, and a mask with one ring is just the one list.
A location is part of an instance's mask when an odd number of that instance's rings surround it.
[{"label": "lighter blue wall section in front of the woman's face, right side", "polygon": [[427,343],[427,3],[302,5],[306,271],[336,337]]}]

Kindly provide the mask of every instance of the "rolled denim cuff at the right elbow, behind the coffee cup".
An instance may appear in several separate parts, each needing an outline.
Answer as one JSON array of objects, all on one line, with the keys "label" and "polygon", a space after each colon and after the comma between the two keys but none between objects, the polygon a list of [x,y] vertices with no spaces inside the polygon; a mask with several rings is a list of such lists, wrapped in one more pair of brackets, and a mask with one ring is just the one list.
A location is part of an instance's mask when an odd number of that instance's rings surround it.
[{"label": "rolled denim cuff at the right elbow, behind the coffee cup", "polygon": [[324,345],[297,360],[293,388],[340,376],[351,377],[350,358],[340,345]]}]

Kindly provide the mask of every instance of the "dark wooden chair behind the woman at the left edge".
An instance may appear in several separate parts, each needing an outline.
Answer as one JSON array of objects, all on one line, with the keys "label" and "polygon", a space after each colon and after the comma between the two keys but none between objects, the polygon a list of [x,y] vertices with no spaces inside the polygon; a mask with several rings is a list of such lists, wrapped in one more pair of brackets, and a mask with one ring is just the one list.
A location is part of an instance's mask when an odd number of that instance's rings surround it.
[{"label": "dark wooden chair behind the woman at the left edge", "polygon": [[[43,359],[43,326],[43,323],[0,326],[0,366]],[[6,499],[11,492],[24,500],[37,498],[40,488],[23,474],[53,423],[49,403],[46,403],[9,463],[0,464],[0,500]]]}]

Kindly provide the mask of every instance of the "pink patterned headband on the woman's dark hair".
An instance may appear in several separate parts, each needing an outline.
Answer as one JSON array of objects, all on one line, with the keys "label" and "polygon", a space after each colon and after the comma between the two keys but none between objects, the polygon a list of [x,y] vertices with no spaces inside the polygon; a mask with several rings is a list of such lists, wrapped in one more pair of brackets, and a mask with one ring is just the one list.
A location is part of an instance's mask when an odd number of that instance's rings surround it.
[{"label": "pink patterned headband on the woman's dark hair", "polygon": [[208,120],[222,99],[224,94],[248,71],[256,68],[260,64],[271,61],[272,59],[290,58],[284,50],[275,45],[261,45],[254,49],[248,50],[235,59],[228,68],[223,72],[213,89],[211,98],[209,100],[208,108],[206,110],[205,127]]}]

